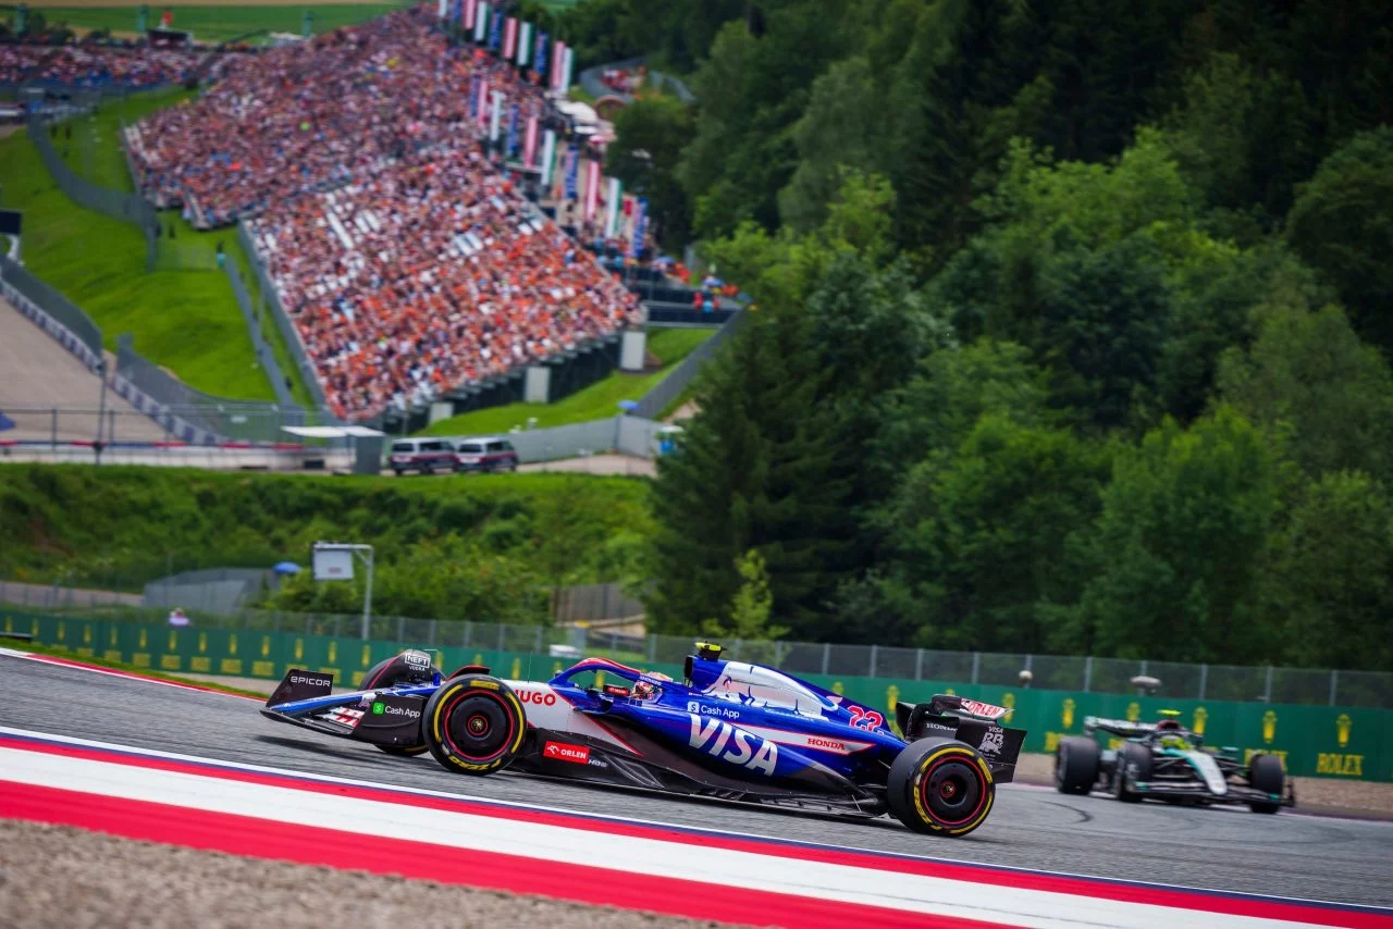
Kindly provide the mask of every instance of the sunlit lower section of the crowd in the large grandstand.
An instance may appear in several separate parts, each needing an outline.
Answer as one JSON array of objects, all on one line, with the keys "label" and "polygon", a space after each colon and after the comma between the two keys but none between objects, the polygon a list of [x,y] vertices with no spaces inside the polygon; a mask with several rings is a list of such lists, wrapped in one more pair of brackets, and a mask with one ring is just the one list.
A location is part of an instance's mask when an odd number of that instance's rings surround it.
[{"label": "sunlit lower section of the crowd in the large grandstand", "polygon": [[460,136],[251,223],[330,408],[423,404],[639,320]]}]

